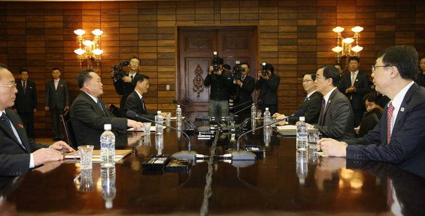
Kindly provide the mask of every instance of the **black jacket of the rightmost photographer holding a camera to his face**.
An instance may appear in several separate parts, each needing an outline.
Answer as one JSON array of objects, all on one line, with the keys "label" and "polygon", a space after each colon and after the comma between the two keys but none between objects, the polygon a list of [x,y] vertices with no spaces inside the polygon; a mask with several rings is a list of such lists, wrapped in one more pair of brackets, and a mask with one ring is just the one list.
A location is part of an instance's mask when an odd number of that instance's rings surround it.
[{"label": "black jacket of the rightmost photographer holding a camera to his face", "polygon": [[267,80],[263,78],[257,80],[255,88],[259,90],[258,99],[263,100],[263,104],[277,104],[277,87],[279,87],[279,83],[280,77],[275,73],[272,73]]}]

